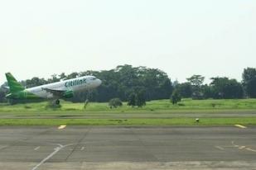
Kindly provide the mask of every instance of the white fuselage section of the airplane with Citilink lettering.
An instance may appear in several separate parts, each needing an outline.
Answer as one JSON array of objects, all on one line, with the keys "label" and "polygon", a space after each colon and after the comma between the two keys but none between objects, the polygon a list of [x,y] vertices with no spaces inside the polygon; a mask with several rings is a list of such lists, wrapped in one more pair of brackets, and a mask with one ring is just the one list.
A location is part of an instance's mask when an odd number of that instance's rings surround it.
[{"label": "white fuselage section of the airplane with Citilink lettering", "polygon": [[56,83],[27,88],[26,91],[31,92],[37,97],[41,98],[56,98],[52,92],[49,92],[49,90],[46,89],[51,89],[52,91],[58,92],[77,92],[99,87],[100,84],[101,80],[98,78],[95,78],[94,76],[84,76],[80,78],[72,78]]}]

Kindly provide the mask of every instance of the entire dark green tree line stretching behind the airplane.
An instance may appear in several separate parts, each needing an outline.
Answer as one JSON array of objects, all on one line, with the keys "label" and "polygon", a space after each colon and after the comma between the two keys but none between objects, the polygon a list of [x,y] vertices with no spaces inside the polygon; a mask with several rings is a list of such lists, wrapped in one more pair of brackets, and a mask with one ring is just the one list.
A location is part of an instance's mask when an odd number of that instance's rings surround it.
[{"label": "entire dark green tree line stretching behind the airplane", "polygon": [[[78,92],[71,102],[109,102],[118,97],[121,101],[131,101],[131,97],[143,98],[145,101],[169,99],[175,91],[181,97],[193,99],[231,99],[256,97],[256,68],[244,68],[242,82],[234,78],[215,77],[209,84],[204,83],[202,75],[192,75],[186,78],[185,83],[171,82],[167,73],[157,68],[133,67],[132,65],[119,65],[110,70],[74,72],[53,74],[51,78],[31,78],[21,81],[25,87],[35,87],[46,83],[55,83],[60,80],[77,78],[85,75],[94,75],[102,80],[97,89],[90,92]],[[0,102],[7,102],[7,83],[0,87]],[[135,100],[135,99],[134,99]]]}]

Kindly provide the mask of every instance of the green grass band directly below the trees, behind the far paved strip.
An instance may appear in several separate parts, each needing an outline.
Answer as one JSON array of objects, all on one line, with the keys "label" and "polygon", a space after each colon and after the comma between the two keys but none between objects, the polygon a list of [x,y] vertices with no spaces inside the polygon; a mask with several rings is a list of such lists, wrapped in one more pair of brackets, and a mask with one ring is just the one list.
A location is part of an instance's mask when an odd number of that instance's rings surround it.
[{"label": "green grass band directly below the trees, behind the far paved strip", "polygon": [[61,101],[60,109],[46,109],[47,102],[17,104],[13,106],[0,105],[1,112],[56,112],[56,111],[219,111],[219,110],[256,110],[256,99],[230,99],[230,100],[191,100],[183,99],[178,105],[173,106],[169,100],[147,102],[142,108],[127,106],[123,102],[122,107],[110,109],[108,103],[90,102],[86,109],[84,103],[72,103]]}]

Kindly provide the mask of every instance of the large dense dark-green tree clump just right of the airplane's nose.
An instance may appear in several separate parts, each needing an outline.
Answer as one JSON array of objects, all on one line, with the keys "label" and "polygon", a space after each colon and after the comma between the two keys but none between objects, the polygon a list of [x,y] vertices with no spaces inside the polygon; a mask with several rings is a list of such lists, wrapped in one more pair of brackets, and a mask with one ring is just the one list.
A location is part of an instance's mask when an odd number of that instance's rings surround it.
[{"label": "large dense dark-green tree clump just right of the airplane's nose", "polygon": [[128,101],[129,95],[138,89],[143,89],[146,101],[168,98],[172,91],[170,78],[159,69],[119,65],[94,75],[102,80],[94,98],[99,102],[106,102],[114,97]]}]

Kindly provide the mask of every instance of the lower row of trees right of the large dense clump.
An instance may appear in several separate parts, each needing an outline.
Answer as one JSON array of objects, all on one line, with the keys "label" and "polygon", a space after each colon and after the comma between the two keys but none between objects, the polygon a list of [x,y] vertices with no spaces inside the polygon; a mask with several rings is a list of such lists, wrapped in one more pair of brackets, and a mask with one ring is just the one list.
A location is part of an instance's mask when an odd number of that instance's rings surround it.
[{"label": "lower row of trees right of the large dense clump", "polygon": [[244,68],[242,82],[234,78],[210,78],[210,84],[204,84],[205,78],[193,75],[186,83],[173,83],[181,97],[193,99],[235,99],[256,97],[256,68]]}]

